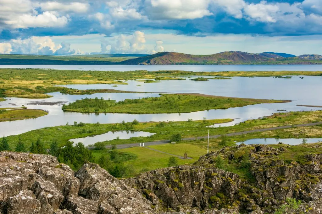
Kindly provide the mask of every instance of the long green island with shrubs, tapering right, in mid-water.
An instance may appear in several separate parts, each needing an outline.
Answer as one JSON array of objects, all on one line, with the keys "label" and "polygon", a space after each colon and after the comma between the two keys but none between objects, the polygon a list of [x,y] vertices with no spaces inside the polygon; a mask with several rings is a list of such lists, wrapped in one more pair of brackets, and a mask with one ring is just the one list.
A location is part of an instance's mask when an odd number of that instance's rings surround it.
[{"label": "long green island with shrubs, tapering right, in mid-water", "polygon": [[161,97],[115,100],[90,99],[76,100],[63,105],[64,111],[96,113],[185,113],[208,109],[227,109],[259,103],[281,103],[285,100],[229,98],[203,94],[161,94]]}]

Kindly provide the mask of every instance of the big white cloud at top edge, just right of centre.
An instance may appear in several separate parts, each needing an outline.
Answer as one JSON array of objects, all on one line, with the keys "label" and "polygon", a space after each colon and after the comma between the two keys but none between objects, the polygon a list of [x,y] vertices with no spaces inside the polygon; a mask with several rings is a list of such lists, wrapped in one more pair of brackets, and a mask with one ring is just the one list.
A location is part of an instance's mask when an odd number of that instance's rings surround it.
[{"label": "big white cloud at top edge, just right of centre", "polygon": [[213,15],[210,0],[147,0],[145,11],[152,19],[196,19]]}]

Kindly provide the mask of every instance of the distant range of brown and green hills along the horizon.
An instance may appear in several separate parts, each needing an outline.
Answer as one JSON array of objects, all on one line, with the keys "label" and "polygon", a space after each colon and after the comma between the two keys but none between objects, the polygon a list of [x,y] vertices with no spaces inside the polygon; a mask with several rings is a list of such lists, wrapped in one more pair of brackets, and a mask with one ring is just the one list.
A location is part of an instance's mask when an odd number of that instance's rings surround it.
[{"label": "distant range of brown and green hills along the horizon", "polygon": [[0,64],[74,64],[74,65],[180,65],[180,64],[322,64],[320,55],[297,57],[284,53],[252,54],[241,51],[225,51],[212,55],[191,55],[175,52],[159,52],[153,55],[84,55],[84,56],[37,56],[0,55]]}]

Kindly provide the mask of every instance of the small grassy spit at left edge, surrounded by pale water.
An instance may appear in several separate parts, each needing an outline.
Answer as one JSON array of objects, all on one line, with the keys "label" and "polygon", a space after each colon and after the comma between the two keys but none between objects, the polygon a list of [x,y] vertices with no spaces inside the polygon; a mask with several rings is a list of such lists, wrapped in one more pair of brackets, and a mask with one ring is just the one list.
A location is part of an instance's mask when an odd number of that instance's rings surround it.
[{"label": "small grassy spit at left edge, surrounded by pale water", "polygon": [[24,120],[47,115],[48,113],[38,109],[4,109],[0,110],[0,122],[12,120]]}]

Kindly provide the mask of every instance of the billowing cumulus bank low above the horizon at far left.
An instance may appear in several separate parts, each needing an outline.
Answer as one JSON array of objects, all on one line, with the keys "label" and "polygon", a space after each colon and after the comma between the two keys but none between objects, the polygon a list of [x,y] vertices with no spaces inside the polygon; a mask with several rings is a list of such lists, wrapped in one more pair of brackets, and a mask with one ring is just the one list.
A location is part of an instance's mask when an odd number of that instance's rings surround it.
[{"label": "billowing cumulus bank low above the horizon at far left", "polygon": [[2,54],[36,54],[36,55],[74,55],[75,50],[71,45],[62,42],[56,45],[48,37],[31,37],[28,39],[11,39],[9,42],[0,43]]}]

